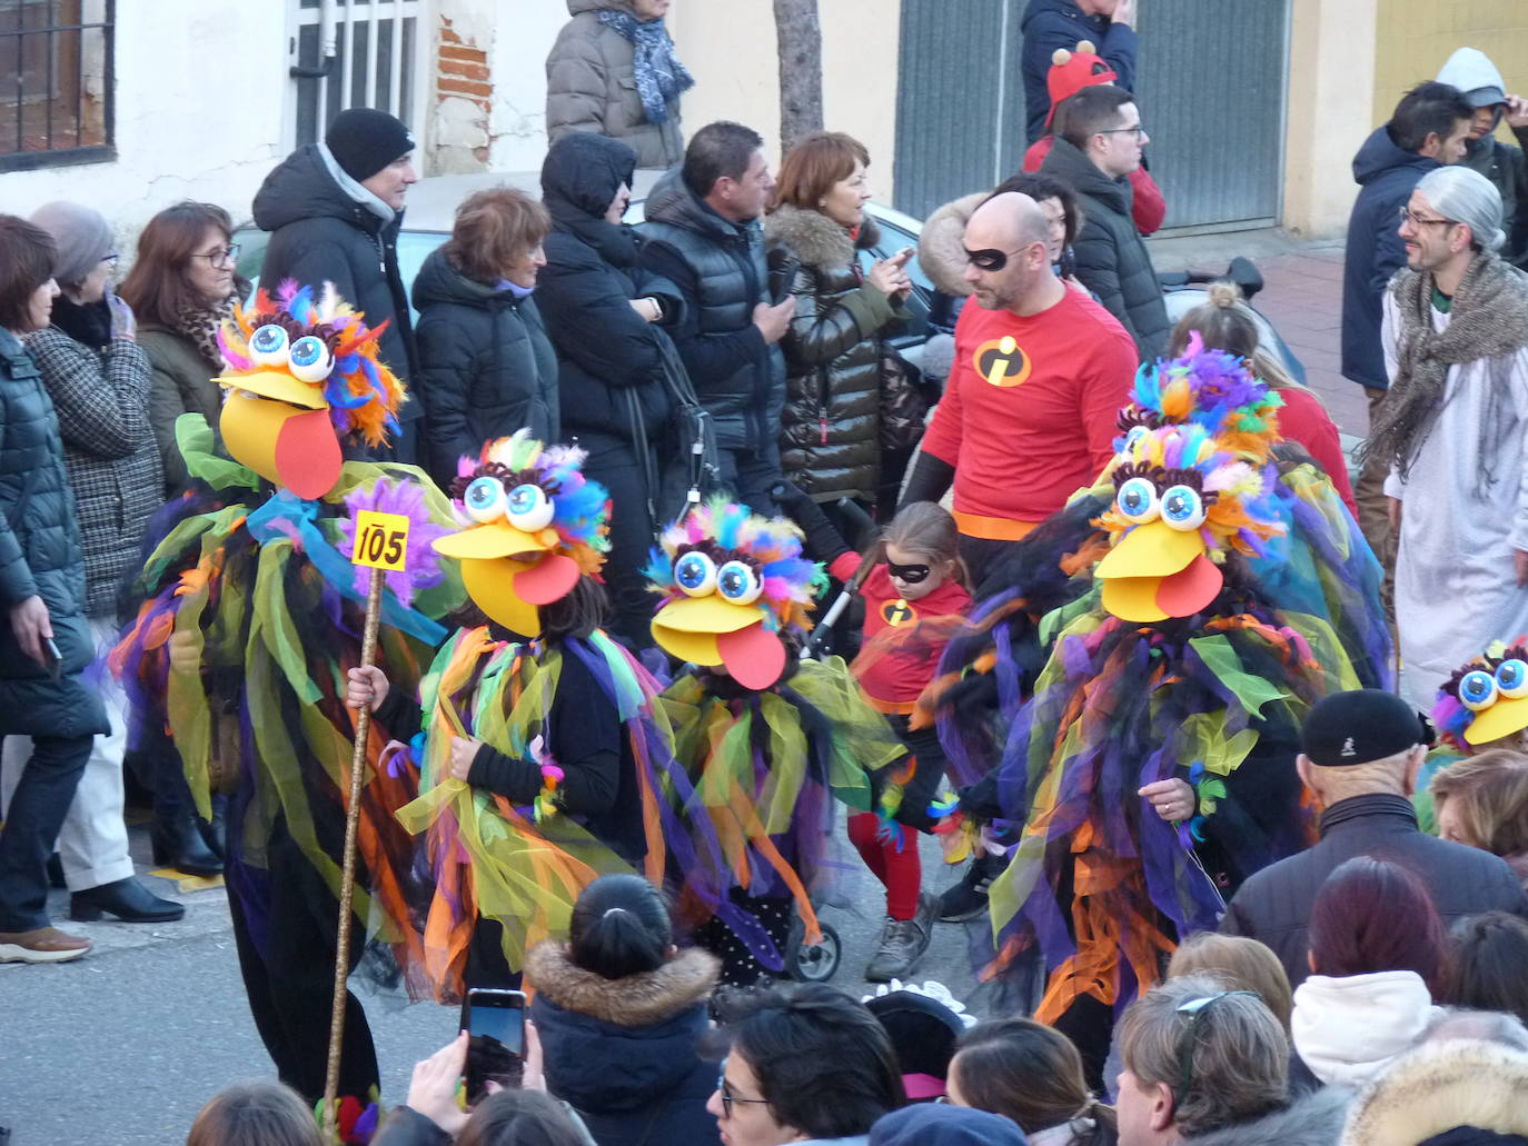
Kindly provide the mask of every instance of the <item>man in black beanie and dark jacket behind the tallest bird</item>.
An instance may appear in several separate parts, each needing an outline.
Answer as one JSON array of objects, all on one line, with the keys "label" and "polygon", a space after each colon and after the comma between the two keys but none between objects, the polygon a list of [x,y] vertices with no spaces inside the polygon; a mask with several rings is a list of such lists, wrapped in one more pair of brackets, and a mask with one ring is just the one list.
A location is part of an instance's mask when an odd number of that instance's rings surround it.
[{"label": "man in black beanie and dark jacket behind the tallest bird", "polygon": [[[260,283],[283,280],[335,290],[367,316],[382,361],[411,385],[417,377],[408,293],[397,269],[397,232],[414,171],[414,136],[396,116],[351,107],[335,116],[322,142],[299,147],[255,193],[255,226],[270,232]],[[410,393],[397,413],[387,460],[416,461],[423,402]]]}]

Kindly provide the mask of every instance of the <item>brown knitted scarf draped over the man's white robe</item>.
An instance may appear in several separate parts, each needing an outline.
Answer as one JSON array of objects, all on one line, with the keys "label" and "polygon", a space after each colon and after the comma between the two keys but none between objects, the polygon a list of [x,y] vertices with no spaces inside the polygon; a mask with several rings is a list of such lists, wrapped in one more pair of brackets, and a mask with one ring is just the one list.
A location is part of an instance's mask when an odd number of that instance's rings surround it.
[{"label": "brown knitted scarf draped over the man's white robe", "polygon": [[[1432,432],[1444,405],[1449,367],[1482,358],[1505,359],[1528,347],[1528,280],[1494,254],[1482,251],[1464,272],[1453,296],[1449,325],[1433,329],[1430,274],[1401,270],[1389,286],[1400,313],[1395,377],[1378,410],[1378,425],[1369,434],[1361,457],[1377,457],[1407,477],[1416,452]],[[1493,411],[1507,400],[1505,364],[1491,364]],[[1482,437],[1497,432],[1497,419],[1481,423]],[[1490,469],[1491,442],[1479,442],[1481,480],[1496,481]]]}]

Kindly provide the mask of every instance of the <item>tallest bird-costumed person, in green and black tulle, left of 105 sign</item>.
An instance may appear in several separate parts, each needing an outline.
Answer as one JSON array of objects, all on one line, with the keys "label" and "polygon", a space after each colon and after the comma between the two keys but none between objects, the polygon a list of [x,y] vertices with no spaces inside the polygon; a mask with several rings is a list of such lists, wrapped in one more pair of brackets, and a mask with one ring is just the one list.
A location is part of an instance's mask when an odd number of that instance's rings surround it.
[{"label": "tallest bird-costumed person, in green and black tulle, left of 105 sign", "polygon": [[[281,1079],[310,1100],[324,1083],[354,735],[345,672],[361,659],[368,573],[350,564],[353,513],[413,521],[410,571],[388,576],[379,634],[379,656],[399,678],[417,677],[445,636],[437,617],[461,596],[429,559],[449,506],[428,478],[341,457],[341,439],[379,446],[396,428],[403,393],[376,358],[377,335],[332,289],[315,298],[290,283],[223,327],[220,428],[235,460],[214,455],[202,417],[180,419],[197,484],[151,527],[144,604],[112,657],[134,740],[174,740],[203,817],[214,792],[231,793],[226,880],[251,1007]],[[385,721],[373,721],[354,950],[376,940],[411,969],[420,963],[413,840],[394,813],[416,779],[379,764],[388,740]],[[364,1102],[376,1083],[351,998],[339,1089]]]}]

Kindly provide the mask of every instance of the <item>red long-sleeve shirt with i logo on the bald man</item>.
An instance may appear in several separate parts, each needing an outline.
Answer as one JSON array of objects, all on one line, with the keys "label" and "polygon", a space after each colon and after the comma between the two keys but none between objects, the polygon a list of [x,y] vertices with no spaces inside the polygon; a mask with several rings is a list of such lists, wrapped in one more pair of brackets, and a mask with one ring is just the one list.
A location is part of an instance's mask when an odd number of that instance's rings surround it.
[{"label": "red long-sleeve shirt with i logo on the bald man", "polygon": [[1077,290],[1027,318],[967,303],[923,439],[924,451],[955,468],[961,530],[990,535],[972,518],[1044,521],[1089,484],[1114,457],[1134,377],[1135,342]]}]

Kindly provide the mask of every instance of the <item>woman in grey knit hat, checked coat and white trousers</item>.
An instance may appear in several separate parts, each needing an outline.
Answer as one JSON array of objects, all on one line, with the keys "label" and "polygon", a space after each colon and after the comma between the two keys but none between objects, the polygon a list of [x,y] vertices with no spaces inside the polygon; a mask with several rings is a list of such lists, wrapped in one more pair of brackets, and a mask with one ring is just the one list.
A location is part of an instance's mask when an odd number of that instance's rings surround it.
[{"label": "woman in grey knit hat, checked coat and white trousers", "polygon": [[[58,414],[64,469],[84,552],[84,613],[98,652],[116,639],[122,581],[136,571],[144,527],[162,501],[159,449],[148,425],[148,358],[133,341],[133,312],[112,293],[116,267],[112,228],[79,203],[47,203],[32,214],[58,258],[49,325],[26,338]],[[177,920],[185,908],[153,895],[133,872],[122,821],[125,698],[108,674],[96,689],[107,706],[108,735],[96,736],[60,833],[69,915],[124,923]],[[24,761],[20,738],[9,762]],[[14,772],[14,769],[8,769]]]}]

